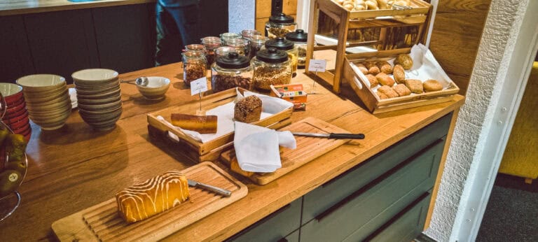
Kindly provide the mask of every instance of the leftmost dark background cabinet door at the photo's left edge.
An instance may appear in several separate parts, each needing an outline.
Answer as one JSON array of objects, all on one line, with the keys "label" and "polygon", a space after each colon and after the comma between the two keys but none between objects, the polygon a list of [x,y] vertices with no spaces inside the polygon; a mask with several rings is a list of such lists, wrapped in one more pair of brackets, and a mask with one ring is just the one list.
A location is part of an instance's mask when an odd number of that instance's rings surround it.
[{"label": "leftmost dark background cabinet door at the photo's left edge", "polygon": [[15,83],[17,78],[35,73],[21,15],[0,17],[0,82]]}]

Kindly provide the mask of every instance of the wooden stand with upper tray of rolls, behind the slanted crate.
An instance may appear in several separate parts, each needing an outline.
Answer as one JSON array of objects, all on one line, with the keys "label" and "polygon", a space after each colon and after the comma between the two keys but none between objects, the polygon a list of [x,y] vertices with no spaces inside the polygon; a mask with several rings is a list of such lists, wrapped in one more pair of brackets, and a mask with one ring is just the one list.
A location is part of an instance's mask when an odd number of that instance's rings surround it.
[{"label": "wooden stand with upper tray of rolls, behind the slanted crate", "polygon": [[[417,37],[408,43],[413,46],[425,38],[429,17],[432,7],[422,0],[411,0],[411,9],[382,9],[382,10],[361,10],[349,11],[340,4],[332,0],[313,0],[310,3],[310,20],[308,29],[308,48],[306,55],[305,73],[317,76],[319,79],[333,87],[333,91],[340,92],[342,83],[344,59],[347,57],[346,48],[355,46],[375,46],[378,51],[399,50],[408,52],[408,48],[399,48],[390,43],[389,36],[392,31],[399,27],[417,27]],[[329,16],[338,24],[338,44],[315,46],[315,35],[319,27],[319,13]],[[349,41],[348,31],[350,29],[380,29],[376,40]],[[406,50],[407,49],[407,50]],[[314,56],[315,50],[336,50],[336,66],[334,70],[312,73],[308,71],[310,59]]]}]

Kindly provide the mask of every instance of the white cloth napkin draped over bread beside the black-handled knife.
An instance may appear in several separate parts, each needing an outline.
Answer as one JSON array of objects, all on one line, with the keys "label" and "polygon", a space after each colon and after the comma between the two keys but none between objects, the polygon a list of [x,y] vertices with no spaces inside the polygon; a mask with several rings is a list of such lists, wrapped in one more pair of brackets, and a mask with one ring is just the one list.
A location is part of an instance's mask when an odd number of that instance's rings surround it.
[{"label": "white cloth napkin draped over bread beside the black-handled knife", "polygon": [[278,146],[295,149],[290,131],[275,131],[244,122],[235,122],[233,147],[237,163],[243,171],[273,172],[282,167]]}]

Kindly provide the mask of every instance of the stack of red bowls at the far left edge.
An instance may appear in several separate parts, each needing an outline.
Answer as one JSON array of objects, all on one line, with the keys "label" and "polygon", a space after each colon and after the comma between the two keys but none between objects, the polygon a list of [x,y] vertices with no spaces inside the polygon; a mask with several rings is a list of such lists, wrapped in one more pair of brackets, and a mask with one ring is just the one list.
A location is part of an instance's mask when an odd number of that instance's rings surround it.
[{"label": "stack of red bowls at the far left edge", "polygon": [[32,127],[30,127],[22,87],[13,83],[0,83],[0,92],[6,101],[6,114],[2,122],[7,124],[13,133],[22,134],[28,141],[32,135]]}]

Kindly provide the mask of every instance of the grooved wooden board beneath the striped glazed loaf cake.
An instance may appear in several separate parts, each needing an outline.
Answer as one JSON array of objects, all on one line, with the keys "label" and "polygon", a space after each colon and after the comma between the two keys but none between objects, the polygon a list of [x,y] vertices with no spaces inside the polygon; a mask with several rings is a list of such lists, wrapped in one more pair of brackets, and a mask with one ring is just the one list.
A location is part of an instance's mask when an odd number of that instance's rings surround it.
[{"label": "grooved wooden board beneath the striped glazed loaf cake", "polygon": [[211,162],[202,162],[182,171],[187,178],[232,191],[230,197],[189,187],[191,197],[174,208],[151,218],[127,224],[116,199],[104,201],[53,222],[60,241],[156,241],[165,238],[247,195],[247,186]]}]

